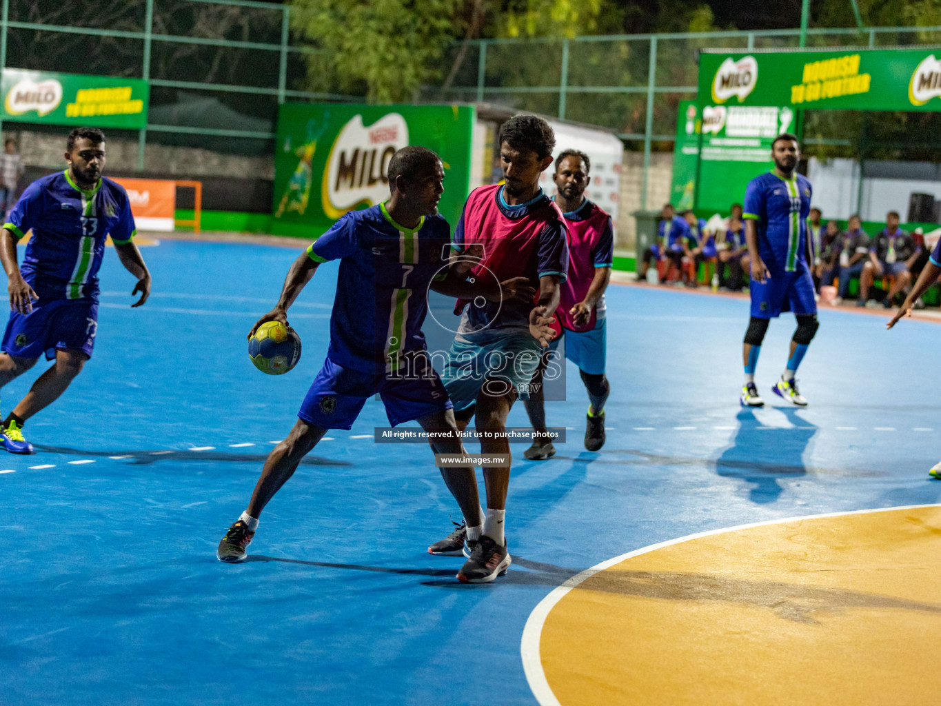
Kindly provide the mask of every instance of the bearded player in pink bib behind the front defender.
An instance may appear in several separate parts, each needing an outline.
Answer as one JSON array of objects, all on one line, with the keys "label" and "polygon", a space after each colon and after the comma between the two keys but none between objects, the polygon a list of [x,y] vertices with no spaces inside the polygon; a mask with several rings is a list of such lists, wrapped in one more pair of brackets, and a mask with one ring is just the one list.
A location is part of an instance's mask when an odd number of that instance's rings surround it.
[{"label": "bearded player in pink bib behind the front defender", "polygon": [[555,159],[552,181],[558,189],[553,199],[562,209],[568,224],[568,278],[562,284],[559,308],[555,315],[562,326],[562,335],[550,344],[550,351],[533,377],[530,398],[525,403],[533,425],[533,445],[523,456],[544,460],[555,454],[555,447],[546,428],[543,375],[549,356],[558,355],[559,341],[566,341],[566,358],[579,367],[579,375],[588,390],[588,420],[585,427],[585,448],[598,451],[605,441],[604,403],[611,385],[604,374],[607,328],[604,290],[611,281],[614,264],[614,227],[611,217],[588,201],[584,192],[591,183],[588,155],[576,150],[561,152]]}]

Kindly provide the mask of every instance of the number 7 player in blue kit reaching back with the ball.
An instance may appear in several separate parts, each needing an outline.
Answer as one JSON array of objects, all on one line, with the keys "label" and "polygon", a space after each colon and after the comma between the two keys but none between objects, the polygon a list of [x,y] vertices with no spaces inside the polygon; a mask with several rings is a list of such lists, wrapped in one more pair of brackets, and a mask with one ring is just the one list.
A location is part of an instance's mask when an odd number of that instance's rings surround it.
[{"label": "number 7 player in blue kit reaching back with the ball", "polygon": [[[284,281],[278,305],[249,332],[250,338],[267,321],[288,326],[287,310],[317,267],[340,260],[327,360],[291,433],[265,460],[246,511],[219,542],[216,556],[221,561],[245,560],[264,506],[294,474],[301,458],[327,429],[349,429],[366,399],[376,393],[391,425],[417,420],[437,434],[431,439],[436,453],[463,453],[452,404],[431,366],[422,332],[428,288],[492,301],[532,301],[535,290],[523,277],[499,284],[480,278],[471,283],[448,264],[451,231],[438,214],[443,179],[435,152],[423,147],[395,152],[388,168],[389,201],[346,214],[301,253]],[[458,505],[465,512],[476,510],[480,500],[473,469],[441,471],[449,487],[458,489]]]}]

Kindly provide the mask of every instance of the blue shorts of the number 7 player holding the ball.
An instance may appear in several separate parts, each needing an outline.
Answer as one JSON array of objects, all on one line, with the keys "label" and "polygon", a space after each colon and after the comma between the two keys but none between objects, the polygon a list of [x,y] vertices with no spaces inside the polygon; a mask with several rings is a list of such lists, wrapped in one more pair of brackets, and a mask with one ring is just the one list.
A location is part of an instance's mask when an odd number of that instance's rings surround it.
[{"label": "blue shorts of the number 7 player holding the ball", "polygon": [[428,357],[421,355],[410,360],[416,363],[407,366],[408,373],[389,374],[344,368],[327,358],[313,378],[297,416],[325,429],[349,429],[366,399],[376,393],[382,397],[392,426],[451,409],[441,378]]}]

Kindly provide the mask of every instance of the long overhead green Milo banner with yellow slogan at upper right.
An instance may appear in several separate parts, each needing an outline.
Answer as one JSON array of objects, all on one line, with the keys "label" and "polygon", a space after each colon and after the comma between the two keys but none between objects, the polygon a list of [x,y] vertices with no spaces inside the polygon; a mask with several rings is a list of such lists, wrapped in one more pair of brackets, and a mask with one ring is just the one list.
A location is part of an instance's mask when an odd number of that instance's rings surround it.
[{"label": "long overhead green Milo banner with yellow slogan at upper right", "polygon": [[941,110],[941,50],[705,51],[698,103],[802,109]]}]

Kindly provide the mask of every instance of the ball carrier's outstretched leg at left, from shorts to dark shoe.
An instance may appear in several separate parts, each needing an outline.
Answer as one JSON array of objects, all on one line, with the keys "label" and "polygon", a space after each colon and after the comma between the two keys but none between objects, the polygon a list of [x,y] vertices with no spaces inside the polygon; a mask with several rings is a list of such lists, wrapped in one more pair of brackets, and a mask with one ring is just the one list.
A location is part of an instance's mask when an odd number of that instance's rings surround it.
[{"label": "ball carrier's outstretched leg at left, from shorts to dark shoe", "polygon": [[262,475],[255,484],[255,490],[248,501],[246,511],[229,528],[229,532],[219,542],[215,556],[220,561],[231,563],[245,561],[245,548],[251,542],[258,529],[258,517],[264,506],[275,496],[288,478],[294,475],[303,457],[311,453],[317,441],[327,433],[322,426],[308,424],[298,419],[287,438],[280,441],[264,461]]}]

